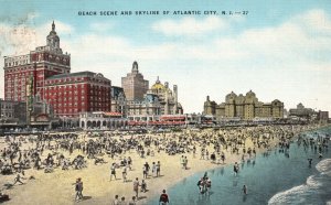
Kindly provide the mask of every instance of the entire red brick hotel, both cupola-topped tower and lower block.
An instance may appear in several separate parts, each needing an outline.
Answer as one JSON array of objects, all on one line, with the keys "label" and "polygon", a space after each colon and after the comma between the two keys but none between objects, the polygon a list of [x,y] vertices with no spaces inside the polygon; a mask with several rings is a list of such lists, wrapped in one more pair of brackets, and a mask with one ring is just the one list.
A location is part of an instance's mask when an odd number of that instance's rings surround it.
[{"label": "entire red brick hotel, both cupola-topped tower and lower block", "polygon": [[110,88],[111,82],[102,74],[71,73],[71,55],[60,47],[54,22],[45,46],[4,57],[4,99],[26,101],[30,90],[52,105],[55,117],[110,111]]}]

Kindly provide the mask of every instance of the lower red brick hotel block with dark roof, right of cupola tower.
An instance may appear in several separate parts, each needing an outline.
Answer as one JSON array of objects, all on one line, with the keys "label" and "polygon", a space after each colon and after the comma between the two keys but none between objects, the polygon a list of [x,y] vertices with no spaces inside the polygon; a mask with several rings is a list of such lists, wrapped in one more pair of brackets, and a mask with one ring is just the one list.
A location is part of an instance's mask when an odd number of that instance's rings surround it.
[{"label": "lower red brick hotel block with dark roof, right of cupola tower", "polygon": [[78,72],[61,74],[45,80],[44,99],[54,116],[77,118],[85,111],[110,111],[111,82],[102,74]]}]

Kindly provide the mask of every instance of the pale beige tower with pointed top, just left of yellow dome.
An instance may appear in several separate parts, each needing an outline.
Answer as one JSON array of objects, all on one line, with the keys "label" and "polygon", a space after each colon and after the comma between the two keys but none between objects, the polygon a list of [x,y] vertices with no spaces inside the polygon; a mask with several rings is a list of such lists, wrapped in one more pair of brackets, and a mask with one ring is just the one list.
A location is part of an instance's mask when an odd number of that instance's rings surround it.
[{"label": "pale beige tower with pointed top, just left of yellow dome", "polygon": [[139,73],[137,62],[134,62],[131,73],[121,78],[121,87],[127,100],[143,100],[149,82],[143,79],[143,75]]}]

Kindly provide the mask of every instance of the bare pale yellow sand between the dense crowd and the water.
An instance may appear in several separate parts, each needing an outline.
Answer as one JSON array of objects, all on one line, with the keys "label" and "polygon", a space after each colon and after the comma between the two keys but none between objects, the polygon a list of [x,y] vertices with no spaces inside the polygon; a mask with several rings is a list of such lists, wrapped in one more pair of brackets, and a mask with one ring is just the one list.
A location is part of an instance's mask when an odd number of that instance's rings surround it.
[{"label": "bare pale yellow sand between the dense crowd and the water", "polygon": [[[308,128],[305,128],[308,129]],[[252,130],[250,130],[252,131]],[[296,130],[296,132],[301,131],[301,128]],[[159,137],[171,139],[174,138],[173,134],[189,134],[190,131],[181,132],[181,133],[167,133],[164,137],[162,134],[148,134],[150,137]],[[209,134],[212,132],[211,130],[204,130],[203,133],[199,134]],[[122,138],[120,136],[115,136],[113,138]],[[126,137],[125,137],[126,138]],[[129,138],[129,136],[127,137]],[[277,138],[269,138],[268,144],[270,147],[275,147],[278,143]],[[4,143],[4,139],[1,139],[0,149],[2,150]],[[113,204],[115,195],[118,195],[119,198],[125,196],[126,202],[131,199],[135,196],[132,182],[136,177],[139,179],[139,182],[142,180],[142,168],[146,162],[150,165],[152,162],[160,161],[161,163],[161,176],[154,177],[149,173],[147,182],[148,192],[142,193],[139,188],[139,199],[137,204],[146,204],[153,196],[160,195],[162,190],[167,190],[171,185],[177,182],[188,177],[196,172],[212,170],[218,166],[228,165],[234,162],[241,162],[242,160],[242,149],[239,147],[239,152],[231,153],[231,150],[221,149],[224,151],[226,160],[225,163],[216,164],[212,163],[211,160],[201,160],[200,154],[200,145],[196,142],[196,154],[193,157],[193,153],[178,153],[174,155],[169,155],[164,151],[160,151],[158,153],[154,145],[151,145],[150,149],[153,150],[154,155],[147,155],[146,158],[141,158],[138,152],[134,149],[122,153],[121,155],[116,155],[114,160],[104,154],[99,158],[103,158],[106,163],[94,164],[94,160],[87,160],[87,168],[82,170],[61,170],[61,168],[54,169],[52,173],[44,173],[43,170],[29,169],[25,170],[23,180],[24,184],[19,185],[15,184],[9,190],[4,190],[6,194],[9,194],[10,201],[7,204]],[[28,149],[30,143],[24,143],[23,147]],[[253,148],[254,140],[250,137],[246,137],[245,139],[245,148]],[[210,150],[210,154],[213,152],[214,148],[212,144],[207,145],[207,150]],[[256,149],[257,152],[261,152],[265,150],[264,148]],[[43,152],[42,158],[46,158],[50,151],[45,150]],[[82,154],[82,151],[74,150],[74,152],[68,155],[67,152],[64,152],[66,157],[74,158],[78,154]],[[182,169],[180,163],[181,155],[185,155],[188,158],[188,170]],[[111,163],[118,163],[124,157],[130,157],[132,159],[132,170],[128,170],[127,180],[128,182],[122,182],[121,176],[121,168],[117,169],[117,180],[110,181],[110,165]],[[246,154],[245,158],[248,158]],[[29,180],[30,176],[34,176],[35,180]],[[0,175],[0,185],[12,184],[14,181],[15,174],[11,175]],[[82,177],[84,183],[83,195],[84,199],[76,202],[75,201],[75,181],[76,179]],[[2,186],[3,187],[3,186]],[[2,188],[1,187],[1,188]],[[170,196],[171,198],[171,196]]]}]

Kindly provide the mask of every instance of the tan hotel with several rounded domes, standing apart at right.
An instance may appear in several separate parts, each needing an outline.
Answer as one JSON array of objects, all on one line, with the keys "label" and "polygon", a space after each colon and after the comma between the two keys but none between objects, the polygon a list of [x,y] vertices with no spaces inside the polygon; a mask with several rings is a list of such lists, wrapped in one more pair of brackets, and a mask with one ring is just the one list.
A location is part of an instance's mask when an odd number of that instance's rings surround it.
[{"label": "tan hotel with several rounded domes, standing apart at right", "polygon": [[205,116],[214,116],[216,121],[273,121],[284,118],[284,102],[278,99],[271,102],[258,101],[258,98],[252,90],[245,96],[243,94],[236,95],[232,91],[226,95],[225,102],[218,105],[212,101],[207,96],[204,102],[203,114]]}]

